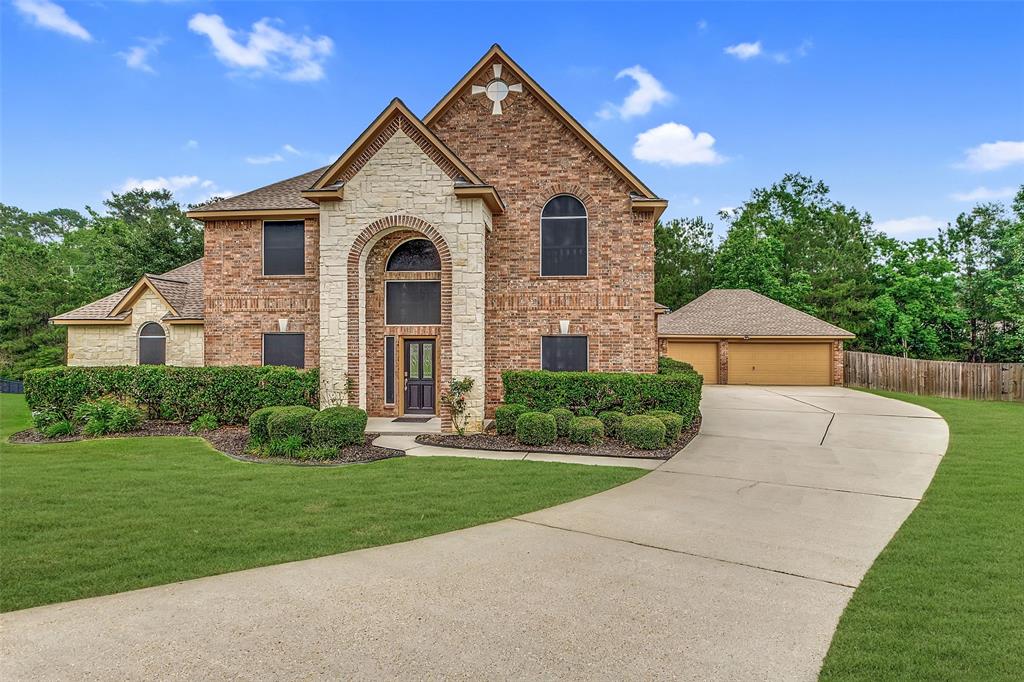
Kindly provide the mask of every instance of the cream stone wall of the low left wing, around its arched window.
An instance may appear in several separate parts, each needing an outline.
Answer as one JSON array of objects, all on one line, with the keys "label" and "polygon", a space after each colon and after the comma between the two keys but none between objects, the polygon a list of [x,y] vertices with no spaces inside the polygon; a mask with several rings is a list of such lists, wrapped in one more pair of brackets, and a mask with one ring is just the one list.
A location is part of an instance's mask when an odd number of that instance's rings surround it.
[{"label": "cream stone wall of the low left wing, around its arched window", "polygon": [[202,367],[203,326],[162,322],[169,312],[160,297],[146,290],[132,306],[128,325],[69,325],[68,366],[95,367],[138,364],[138,330],[159,323],[167,335],[167,364]]}]

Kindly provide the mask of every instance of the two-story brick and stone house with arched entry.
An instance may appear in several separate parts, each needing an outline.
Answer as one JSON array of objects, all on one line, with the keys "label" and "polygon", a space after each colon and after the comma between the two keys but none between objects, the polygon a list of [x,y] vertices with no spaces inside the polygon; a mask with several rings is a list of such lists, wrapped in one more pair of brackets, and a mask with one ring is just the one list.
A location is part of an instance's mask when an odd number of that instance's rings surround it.
[{"label": "two-story brick and stone house with arched entry", "polygon": [[191,212],[201,263],[54,323],[69,364],[318,367],[372,416],[445,420],[471,377],[474,426],[507,369],[655,371],[666,206],[495,45],[423,119],[395,99],[331,166]]}]

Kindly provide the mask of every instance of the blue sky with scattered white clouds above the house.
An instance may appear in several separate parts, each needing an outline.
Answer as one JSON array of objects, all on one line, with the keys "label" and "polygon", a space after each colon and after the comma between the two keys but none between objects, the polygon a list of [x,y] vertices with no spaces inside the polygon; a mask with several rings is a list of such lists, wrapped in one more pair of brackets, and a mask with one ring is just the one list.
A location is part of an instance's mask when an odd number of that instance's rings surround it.
[{"label": "blue sky with scattered white clouds above the house", "polygon": [[0,201],[28,210],[311,170],[494,42],[667,217],[801,171],[911,238],[1024,182],[1021,3],[0,5]]}]

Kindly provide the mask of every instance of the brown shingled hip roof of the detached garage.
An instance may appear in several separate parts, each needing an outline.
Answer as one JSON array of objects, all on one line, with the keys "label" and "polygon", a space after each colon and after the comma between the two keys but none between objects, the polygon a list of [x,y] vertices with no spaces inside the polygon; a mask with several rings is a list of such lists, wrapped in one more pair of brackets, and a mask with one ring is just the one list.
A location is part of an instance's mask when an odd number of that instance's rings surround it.
[{"label": "brown shingled hip roof of the detached garage", "polygon": [[675,312],[657,316],[659,336],[813,336],[853,334],[750,289],[712,289]]}]

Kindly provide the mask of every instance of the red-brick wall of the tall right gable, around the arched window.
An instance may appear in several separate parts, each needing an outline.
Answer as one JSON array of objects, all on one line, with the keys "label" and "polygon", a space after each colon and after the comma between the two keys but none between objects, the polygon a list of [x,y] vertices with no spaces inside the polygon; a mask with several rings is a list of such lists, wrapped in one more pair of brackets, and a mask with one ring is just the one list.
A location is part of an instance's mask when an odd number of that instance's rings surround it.
[{"label": "red-brick wall of the tall right gable, around the arched window", "polygon": [[[470,91],[490,78],[487,65],[431,122],[508,206],[495,216],[486,246],[488,416],[502,398],[502,371],[540,369],[541,337],[558,334],[561,319],[571,334],[590,337],[591,370],[657,369],[653,213],[632,210],[626,181],[527,86],[494,116],[492,102]],[[587,276],[540,276],[541,210],[558,194],[587,207]]]}]

